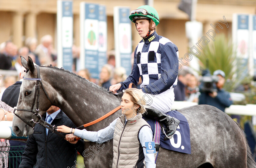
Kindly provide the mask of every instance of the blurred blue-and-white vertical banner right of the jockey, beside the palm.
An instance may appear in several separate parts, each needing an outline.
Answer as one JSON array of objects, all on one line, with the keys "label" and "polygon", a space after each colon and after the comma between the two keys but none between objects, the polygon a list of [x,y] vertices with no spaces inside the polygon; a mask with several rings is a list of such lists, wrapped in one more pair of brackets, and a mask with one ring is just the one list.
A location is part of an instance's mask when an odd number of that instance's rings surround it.
[{"label": "blurred blue-and-white vertical banner right of the jockey, beside the palm", "polygon": [[233,14],[233,42],[236,45],[237,56],[241,59],[244,75],[248,75],[249,59],[249,15]]}]

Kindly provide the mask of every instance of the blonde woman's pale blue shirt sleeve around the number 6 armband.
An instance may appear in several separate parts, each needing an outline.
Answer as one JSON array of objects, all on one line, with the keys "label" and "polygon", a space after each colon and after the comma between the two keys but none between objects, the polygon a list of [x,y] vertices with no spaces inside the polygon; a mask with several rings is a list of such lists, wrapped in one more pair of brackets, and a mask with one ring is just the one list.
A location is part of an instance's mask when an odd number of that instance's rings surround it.
[{"label": "blonde woman's pale blue shirt sleeve around the number 6 armband", "polygon": [[[151,142],[153,139],[153,133],[150,127],[144,126],[140,129],[139,140],[142,147],[145,147],[145,142]],[[143,153],[145,156],[145,163],[147,168],[155,168],[155,154],[146,153],[146,149],[143,148]]]}]

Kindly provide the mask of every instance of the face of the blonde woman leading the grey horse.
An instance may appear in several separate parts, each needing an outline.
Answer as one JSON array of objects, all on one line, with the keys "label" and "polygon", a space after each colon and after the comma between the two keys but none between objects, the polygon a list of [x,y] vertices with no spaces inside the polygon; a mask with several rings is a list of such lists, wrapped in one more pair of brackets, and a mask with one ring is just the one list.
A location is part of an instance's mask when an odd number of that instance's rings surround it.
[{"label": "face of the blonde woman leading the grey horse", "polygon": [[131,96],[128,93],[124,93],[121,101],[122,114],[126,116],[126,119],[132,119],[137,115],[138,106],[131,101]]}]

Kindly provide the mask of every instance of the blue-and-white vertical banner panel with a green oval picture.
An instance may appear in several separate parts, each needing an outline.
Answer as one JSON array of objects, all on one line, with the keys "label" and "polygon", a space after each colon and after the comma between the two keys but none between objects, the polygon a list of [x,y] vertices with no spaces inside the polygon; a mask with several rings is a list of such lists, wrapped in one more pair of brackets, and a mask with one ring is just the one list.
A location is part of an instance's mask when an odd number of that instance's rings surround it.
[{"label": "blue-and-white vertical banner panel with a green oval picture", "polygon": [[92,78],[99,77],[98,28],[99,5],[80,3],[80,63],[87,68]]}]

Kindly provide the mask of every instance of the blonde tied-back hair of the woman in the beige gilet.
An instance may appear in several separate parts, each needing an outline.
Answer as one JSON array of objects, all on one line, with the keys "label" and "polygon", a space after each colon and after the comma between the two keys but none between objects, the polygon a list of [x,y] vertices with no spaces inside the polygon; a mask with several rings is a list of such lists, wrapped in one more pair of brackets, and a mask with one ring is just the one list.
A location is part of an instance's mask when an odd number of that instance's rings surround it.
[{"label": "blonde tied-back hair of the woman in the beige gilet", "polygon": [[136,88],[126,89],[123,94],[125,93],[129,94],[131,96],[131,101],[139,107],[137,112],[143,114],[146,111],[145,107],[148,107],[143,99],[144,93]]}]

